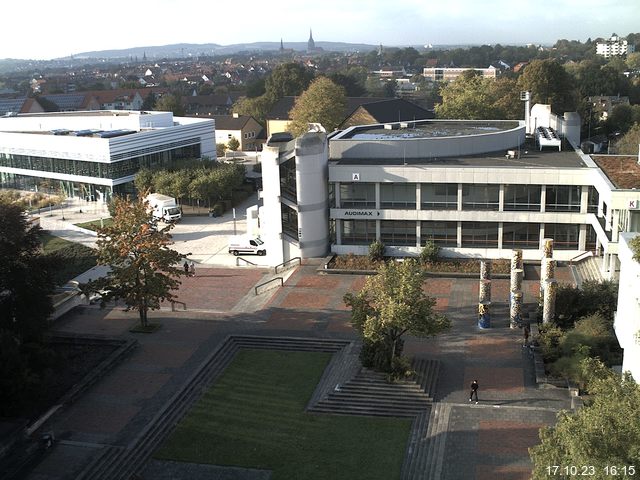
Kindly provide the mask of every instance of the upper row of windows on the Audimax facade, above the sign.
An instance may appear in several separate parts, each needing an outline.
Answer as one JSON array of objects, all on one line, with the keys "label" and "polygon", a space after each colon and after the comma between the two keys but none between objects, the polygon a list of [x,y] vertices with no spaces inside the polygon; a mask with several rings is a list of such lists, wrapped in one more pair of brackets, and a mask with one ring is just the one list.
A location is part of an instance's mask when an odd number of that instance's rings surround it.
[{"label": "upper row of windows on the Audimax facade, above the sign", "polygon": [[[333,191],[333,190],[332,190]],[[376,208],[374,183],[340,183],[340,208]],[[582,187],[579,185],[548,185],[545,189],[545,211],[580,212]],[[598,209],[598,191],[588,188],[588,211]],[[500,185],[462,184],[458,199],[457,183],[420,184],[422,210],[490,210],[500,209]],[[415,210],[415,183],[380,183],[380,208]],[[336,199],[332,198],[332,206]],[[504,211],[539,212],[542,207],[542,185],[504,185]]]}]

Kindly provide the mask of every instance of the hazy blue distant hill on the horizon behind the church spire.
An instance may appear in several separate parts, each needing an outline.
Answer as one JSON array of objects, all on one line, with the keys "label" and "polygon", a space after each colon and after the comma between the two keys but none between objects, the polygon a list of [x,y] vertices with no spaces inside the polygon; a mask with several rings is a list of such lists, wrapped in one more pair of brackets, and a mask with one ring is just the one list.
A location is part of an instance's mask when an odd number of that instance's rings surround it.
[{"label": "hazy blue distant hill on the horizon behind the church spire", "polygon": [[[316,42],[316,47],[328,52],[370,51],[378,48],[376,45],[364,43]],[[307,42],[285,42],[284,48],[304,52]],[[218,45],[217,43],[176,43],[173,45],[147,46],[125,48],[121,50],[98,50],[77,53],[73,57],[82,58],[179,58],[198,55],[230,55],[239,52],[266,52],[280,50],[280,42],[237,43],[233,45]]]}]

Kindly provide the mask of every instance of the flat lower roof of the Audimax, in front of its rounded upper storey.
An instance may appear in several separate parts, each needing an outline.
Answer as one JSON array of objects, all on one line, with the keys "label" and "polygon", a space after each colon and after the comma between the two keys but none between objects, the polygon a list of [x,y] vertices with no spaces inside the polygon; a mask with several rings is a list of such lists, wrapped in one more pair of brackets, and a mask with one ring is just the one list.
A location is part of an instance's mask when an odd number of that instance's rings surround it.
[{"label": "flat lower roof of the Audimax, in front of its rounded upper storey", "polygon": [[[564,143],[564,142],[563,142]],[[566,145],[566,144],[565,144]],[[515,158],[507,158],[506,152],[483,153],[443,158],[340,158],[329,162],[334,165],[430,165],[438,167],[498,167],[498,168],[588,168],[580,155],[572,148],[558,151],[544,147],[540,151],[531,139],[519,149]]]}]

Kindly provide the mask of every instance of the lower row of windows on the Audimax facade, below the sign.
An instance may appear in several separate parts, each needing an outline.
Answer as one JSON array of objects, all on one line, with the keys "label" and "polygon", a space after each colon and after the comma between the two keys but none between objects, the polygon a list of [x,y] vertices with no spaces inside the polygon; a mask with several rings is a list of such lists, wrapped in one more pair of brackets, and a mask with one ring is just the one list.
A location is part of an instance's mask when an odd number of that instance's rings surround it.
[{"label": "lower row of windows on the Audimax facade, below the sign", "polygon": [[[337,220],[341,222],[342,245],[369,245],[377,240],[376,220]],[[499,224],[497,222],[419,222],[420,242],[432,240],[442,247],[458,247],[458,223],[463,248],[498,248]],[[588,248],[595,246],[595,232],[589,227]],[[380,241],[385,245],[417,245],[418,231],[415,221],[380,220]],[[578,250],[580,225],[544,224],[545,238],[554,239],[554,247],[560,250]],[[593,245],[591,245],[593,244]],[[540,224],[503,223],[502,248],[540,248]]]}]

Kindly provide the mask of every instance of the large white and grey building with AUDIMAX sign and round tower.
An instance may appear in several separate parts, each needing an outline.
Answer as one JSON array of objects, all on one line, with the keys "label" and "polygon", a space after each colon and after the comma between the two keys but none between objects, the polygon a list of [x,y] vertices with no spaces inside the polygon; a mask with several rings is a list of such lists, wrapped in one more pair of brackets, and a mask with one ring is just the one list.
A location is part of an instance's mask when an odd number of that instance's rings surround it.
[{"label": "large white and grey building with AUDIMAX sign and round tower", "polygon": [[575,113],[535,105],[527,117],[361,125],[268,141],[264,234],[282,242],[283,260],[366,254],[375,240],[398,256],[433,240],[449,257],[510,258],[522,249],[539,260],[552,238],[556,259],[592,251],[604,276],[615,277],[619,233],[640,231],[637,158],[585,155]]}]

